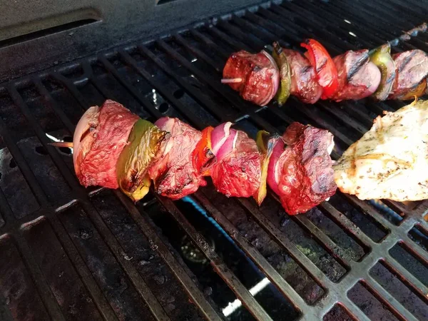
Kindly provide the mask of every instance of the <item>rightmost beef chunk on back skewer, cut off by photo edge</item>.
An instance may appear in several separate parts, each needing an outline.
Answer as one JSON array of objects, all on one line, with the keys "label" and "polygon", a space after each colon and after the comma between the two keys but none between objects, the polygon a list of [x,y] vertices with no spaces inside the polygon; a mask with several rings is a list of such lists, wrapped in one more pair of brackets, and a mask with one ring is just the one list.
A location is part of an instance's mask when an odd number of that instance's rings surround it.
[{"label": "rightmost beef chunk on back skewer, cut off by photo edge", "polygon": [[405,101],[422,96],[427,88],[428,54],[417,49],[394,54],[392,58],[396,77],[388,99]]}]

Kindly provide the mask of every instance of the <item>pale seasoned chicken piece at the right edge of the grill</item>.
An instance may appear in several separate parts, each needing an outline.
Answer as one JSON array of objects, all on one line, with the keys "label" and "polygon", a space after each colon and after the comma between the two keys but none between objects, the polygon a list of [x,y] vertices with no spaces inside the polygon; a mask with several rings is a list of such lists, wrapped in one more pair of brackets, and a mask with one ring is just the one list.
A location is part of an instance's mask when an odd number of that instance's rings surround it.
[{"label": "pale seasoned chicken piece at the right edge of the grill", "polygon": [[428,101],[378,116],[334,169],[340,190],[361,200],[428,198]]}]

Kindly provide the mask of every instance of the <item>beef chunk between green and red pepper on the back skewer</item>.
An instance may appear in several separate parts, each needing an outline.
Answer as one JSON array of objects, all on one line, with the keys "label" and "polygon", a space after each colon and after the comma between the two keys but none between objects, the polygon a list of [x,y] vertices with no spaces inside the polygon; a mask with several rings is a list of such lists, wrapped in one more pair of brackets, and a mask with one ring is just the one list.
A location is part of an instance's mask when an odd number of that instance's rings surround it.
[{"label": "beef chunk between green and red pepper on the back skewer", "polygon": [[317,75],[310,61],[300,52],[282,49],[287,56],[291,69],[290,94],[303,103],[316,103],[322,94],[322,87],[317,81]]}]

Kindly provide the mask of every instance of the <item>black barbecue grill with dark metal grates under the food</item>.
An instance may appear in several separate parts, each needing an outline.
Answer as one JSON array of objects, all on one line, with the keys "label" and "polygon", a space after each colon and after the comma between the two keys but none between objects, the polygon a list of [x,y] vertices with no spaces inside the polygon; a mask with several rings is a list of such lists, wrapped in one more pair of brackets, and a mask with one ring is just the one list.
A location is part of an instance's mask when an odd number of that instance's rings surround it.
[{"label": "black barbecue grill with dark metal grates under the food", "polygon": [[71,150],[49,145],[111,98],[151,121],[234,121],[253,137],[310,123],[335,135],[338,158],[404,103],[260,108],[220,83],[225,60],[307,37],[333,56],[386,41],[428,51],[427,4],[21,2],[0,13],[0,320],[428,319],[427,203],[338,192],[290,216],[272,193],[259,208],[208,184],[133,204],[81,187]]}]

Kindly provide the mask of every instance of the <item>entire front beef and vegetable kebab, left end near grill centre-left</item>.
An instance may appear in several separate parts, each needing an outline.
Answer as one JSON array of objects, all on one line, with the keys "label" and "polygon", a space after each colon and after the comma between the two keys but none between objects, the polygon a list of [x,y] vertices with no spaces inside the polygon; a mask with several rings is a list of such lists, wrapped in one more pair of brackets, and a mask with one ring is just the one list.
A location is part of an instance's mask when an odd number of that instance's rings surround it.
[{"label": "entire front beef and vegetable kebab, left end near grill centre-left", "polygon": [[335,193],[330,132],[292,123],[283,136],[260,131],[254,141],[232,126],[198,131],[168,117],[153,124],[108,100],[83,114],[73,143],[54,145],[73,147],[81,185],[120,188],[134,202],[152,181],[155,193],[177,200],[206,185],[205,176],[218,192],[259,205],[269,185],[291,215]]}]

